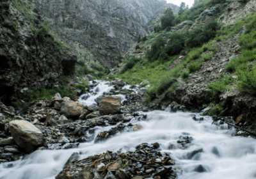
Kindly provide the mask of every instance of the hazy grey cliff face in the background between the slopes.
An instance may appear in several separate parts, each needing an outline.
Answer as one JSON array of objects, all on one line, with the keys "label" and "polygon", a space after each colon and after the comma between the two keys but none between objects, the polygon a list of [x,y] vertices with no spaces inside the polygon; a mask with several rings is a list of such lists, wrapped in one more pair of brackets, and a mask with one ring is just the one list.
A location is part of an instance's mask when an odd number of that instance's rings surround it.
[{"label": "hazy grey cliff face in the background between the slopes", "polygon": [[[107,68],[145,35],[146,26],[159,8],[158,0],[34,0],[39,12],[67,42],[79,59]],[[175,7],[175,6],[174,6]]]}]

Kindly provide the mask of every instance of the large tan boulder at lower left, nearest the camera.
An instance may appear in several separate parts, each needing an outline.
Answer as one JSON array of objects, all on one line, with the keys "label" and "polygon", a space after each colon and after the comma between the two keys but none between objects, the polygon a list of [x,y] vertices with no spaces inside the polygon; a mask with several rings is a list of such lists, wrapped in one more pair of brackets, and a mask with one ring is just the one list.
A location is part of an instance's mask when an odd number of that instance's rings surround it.
[{"label": "large tan boulder at lower left, nearest the camera", "polygon": [[9,128],[14,141],[27,153],[33,152],[40,146],[48,147],[44,134],[28,121],[11,121]]}]

